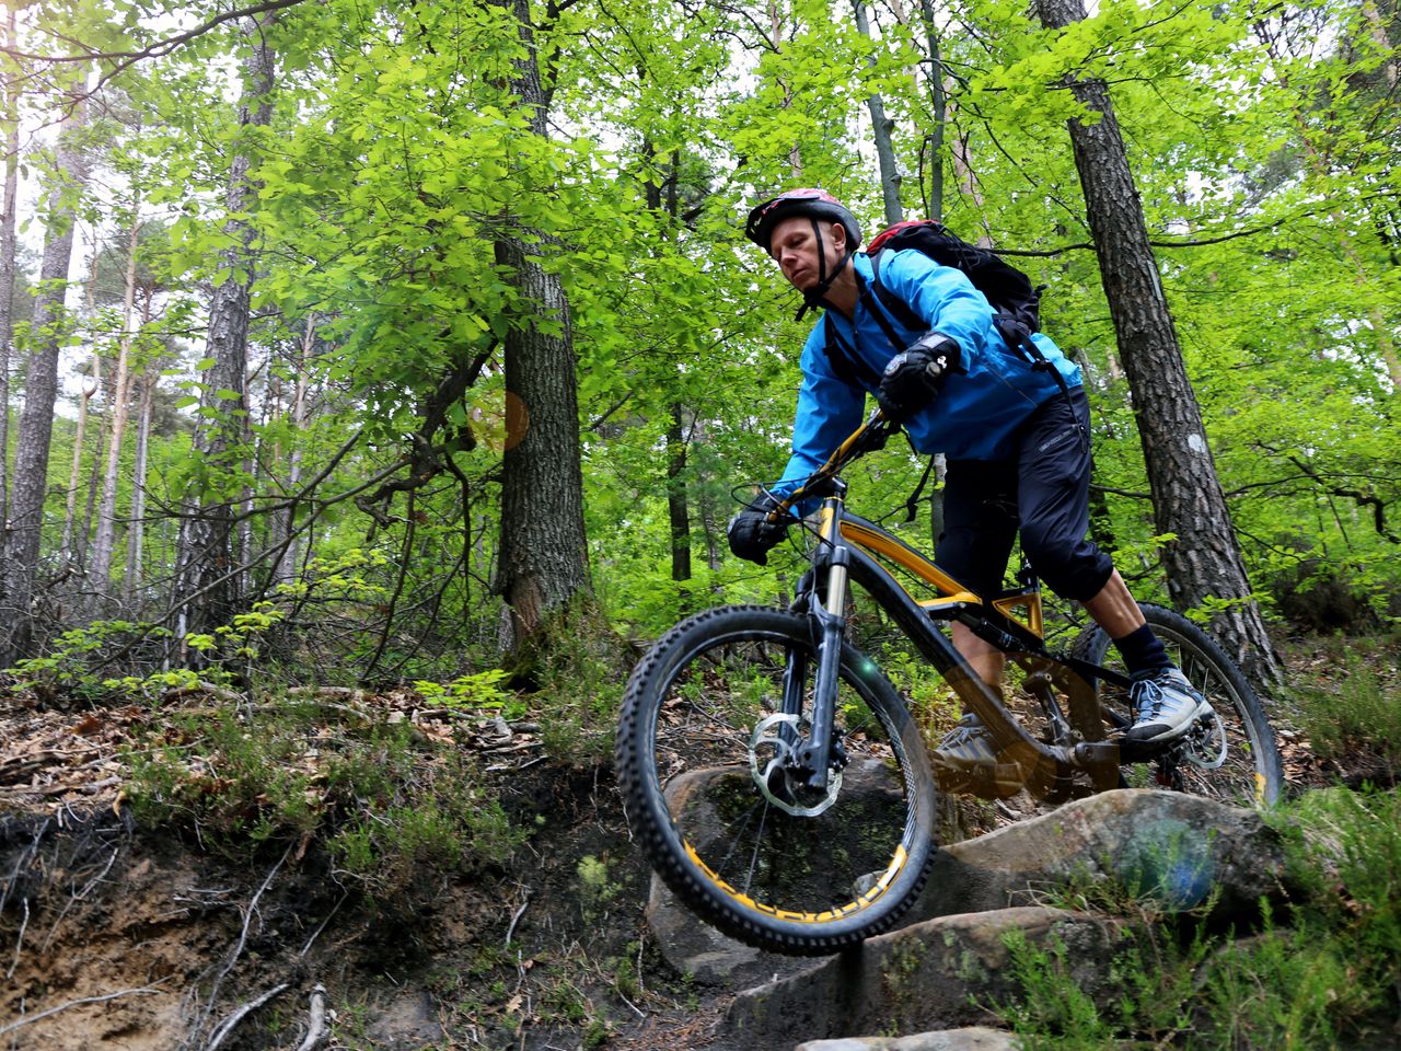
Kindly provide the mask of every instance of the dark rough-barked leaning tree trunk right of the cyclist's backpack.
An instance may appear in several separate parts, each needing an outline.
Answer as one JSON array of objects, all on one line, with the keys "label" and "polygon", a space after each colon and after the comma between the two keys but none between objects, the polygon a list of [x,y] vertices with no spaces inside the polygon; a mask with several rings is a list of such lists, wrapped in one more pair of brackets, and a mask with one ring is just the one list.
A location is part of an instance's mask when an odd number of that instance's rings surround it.
[{"label": "dark rough-barked leaning tree trunk right of the cyclist's backpack", "polygon": [[[1038,0],[1038,7],[1051,29],[1084,18],[1083,0]],[[1180,608],[1230,603],[1215,621],[1219,636],[1257,684],[1278,682],[1278,657],[1251,598],[1108,88],[1093,80],[1070,88],[1082,105],[1101,114],[1094,125],[1072,121],[1070,142],[1133,394],[1157,530],[1177,537],[1164,551],[1168,594]]]}]

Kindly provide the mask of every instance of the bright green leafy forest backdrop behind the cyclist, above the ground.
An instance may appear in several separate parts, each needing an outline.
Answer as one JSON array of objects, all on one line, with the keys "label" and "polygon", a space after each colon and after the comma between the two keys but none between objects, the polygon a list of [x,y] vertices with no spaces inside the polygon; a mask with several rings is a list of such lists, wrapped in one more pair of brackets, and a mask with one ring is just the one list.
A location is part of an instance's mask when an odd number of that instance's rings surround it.
[{"label": "bright green leafy forest backdrop behind the cyclist, above the ground", "polygon": [[[761,570],[723,534],[787,458],[811,315],[743,220],[793,185],[1045,286],[1096,538],[1140,598],[1401,615],[1394,0],[1105,0],[1059,28],[984,0],[0,14],[7,664],[144,674],[256,636],[293,675],[451,677],[580,596],[635,636],[780,597],[799,552]],[[1167,586],[1140,429],[1170,406],[1125,370],[1086,83],[1248,596]],[[891,443],[857,509],[923,467]]]}]

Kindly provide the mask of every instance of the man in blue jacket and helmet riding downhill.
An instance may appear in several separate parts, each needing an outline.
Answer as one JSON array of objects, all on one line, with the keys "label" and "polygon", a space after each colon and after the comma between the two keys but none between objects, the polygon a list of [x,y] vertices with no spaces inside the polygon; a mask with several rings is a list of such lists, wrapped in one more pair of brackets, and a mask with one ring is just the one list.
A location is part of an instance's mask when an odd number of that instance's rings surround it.
[{"label": "man in blue jacket and helmet riding downhill", "polygon": [[[869,294],[873,266],[857,251],[860,227],[821,189],[793,189],[758,205],[745,235],[803,293],[804,311],[825,314],[800,357],[793,454],[772,495],[731,518],[730,549],[766,565],[766,552],[786,535],[785,524],[768,521],[778,497],[827,461],[860,425],[866,394],[874,394],[915,448],[947,455],[940,568],[978,594],[995,594],[1020,531],[1037,575],[1056,594],[1080,601],[1122,654],[1135,706],[1126,740],[1167,741],[1210,713],[1145,622],[1108,555],[1086,535],[1090,430],[1079,367],[1038,332],[1033,339],[1061,381],[1034,369],[999,335],[991,304],[961,270],[913,249],[884,252],[880,282],[925,327],[906,328],[892,312],[877,318],[883,305]],[[891,331],[899,343],[892,345]],[[859,373],[838,367],[829,338],[856,359]],[[1002,653],[965,625],[954,624],[953,632],[972,668],[1000,688]],[[946,783],[991,769],[998,758],[991,733],[971,713],[934,753]]]}]

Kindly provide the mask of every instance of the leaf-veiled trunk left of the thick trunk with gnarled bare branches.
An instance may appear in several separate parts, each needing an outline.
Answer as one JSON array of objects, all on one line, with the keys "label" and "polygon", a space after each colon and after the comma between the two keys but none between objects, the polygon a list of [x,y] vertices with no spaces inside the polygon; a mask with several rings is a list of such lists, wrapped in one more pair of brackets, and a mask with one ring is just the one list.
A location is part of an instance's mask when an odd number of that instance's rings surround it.
[{"label": "leaf-veiled trunk left of the thick trunk with gnarled bare branches", "polygon": [[[272,119],[273,53],[262,29],[275,17],[269,13],[261,21],[248,18],[242,24],[249,50],[244,57],[240,128],[263,128]],[[234,247],[224,252],[224,276],[209,305],[206,356],[214,364],[205,374],[202,398],[203,405],[216,408],[219,415],[206,418],[196,434],[196,448],[213,488],[191,502],[181,520],[175,579],[175,601],[179,604],[175,629],[179,638],[227,624],[241,601],[240,575],[234,572],[233,509],[242,486],[233,492],[228,475],[244,461],[248,430],[248,304],[255,261],[254,227],[241,213],[254,203],[248,178],[251,153],[251,143],[237,144],[228,171],[226,207],[230,219],[224,233]],[[186,656],[182,652],[181,657]]]}]

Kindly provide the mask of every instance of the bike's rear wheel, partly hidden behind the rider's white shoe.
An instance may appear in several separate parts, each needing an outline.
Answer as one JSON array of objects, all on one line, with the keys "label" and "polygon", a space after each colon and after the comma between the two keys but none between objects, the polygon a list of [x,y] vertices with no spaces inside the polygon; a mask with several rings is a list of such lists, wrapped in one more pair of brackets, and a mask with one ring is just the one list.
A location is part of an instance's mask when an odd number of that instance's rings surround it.
[{"label": "bike's rear wheel, partly hidden behind the rider's white shoe", "polygon": [[[1142,610],[1167,656],[1202,692],[1216,716],[1201,720],[1153,764],[1129,767],[1128,783],[1156,783],[1234,806],[1274,804],[1283,786],[1283,765],[1250,682],[1222,647],[1185,617],[1160,605],[1143,604]],[[1086,629],[1076,640],[1075,654],[1091,664],[1122,670],[1103,628]],[[1122,729],[1132,719],[1126,691],[1107,682],[1100,682],[1098,691],[1105,722],[1111,729]]]}]

